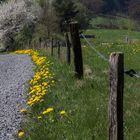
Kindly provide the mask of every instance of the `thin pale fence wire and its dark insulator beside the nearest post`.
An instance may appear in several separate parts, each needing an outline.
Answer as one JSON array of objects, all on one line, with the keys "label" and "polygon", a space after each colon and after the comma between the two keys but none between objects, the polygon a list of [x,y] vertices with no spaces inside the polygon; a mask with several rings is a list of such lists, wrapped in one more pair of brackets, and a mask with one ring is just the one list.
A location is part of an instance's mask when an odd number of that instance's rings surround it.
[{"label": "thin pale fence wire and its dark insulator beside the nearest post", "polygon": [[[106,62],[109,63],[109,59],[108,59],[107,57],[105,57],[102,53],[100,53],[100,52],[94,47],[95,45],[91,44],[91,43],[86,39],[86,37],[84,36],[84,34],[81,33],[80,35],[84,38],[84,40],[87,42],[87,44],[89,45],[89,47],[90,47],[92,50],[94,50],[94,51],[100,56],[100,58],[102,58],[104,61],[106,61]],[[133,70],[133,69],[125,70],[124,73],[125,73],[126,75],[129,75],[130,77],[140,78],[140,74],[136,73],[136,71]]]}]

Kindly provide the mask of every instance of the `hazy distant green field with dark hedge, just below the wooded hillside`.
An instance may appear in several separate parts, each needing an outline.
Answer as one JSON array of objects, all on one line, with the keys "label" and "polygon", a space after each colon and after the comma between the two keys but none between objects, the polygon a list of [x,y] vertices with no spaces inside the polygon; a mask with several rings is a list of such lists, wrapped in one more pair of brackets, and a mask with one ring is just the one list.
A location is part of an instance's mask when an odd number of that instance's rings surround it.
[{"label": "hazy distant green field with dark hedge, just below the wooded hillside", "polygon": [[110,16],[102,15],[94,17],[91,22],[91,28],[94,29],[129,29],[139,30],[140,25],[136,20],[132,20],[127,16]]}]

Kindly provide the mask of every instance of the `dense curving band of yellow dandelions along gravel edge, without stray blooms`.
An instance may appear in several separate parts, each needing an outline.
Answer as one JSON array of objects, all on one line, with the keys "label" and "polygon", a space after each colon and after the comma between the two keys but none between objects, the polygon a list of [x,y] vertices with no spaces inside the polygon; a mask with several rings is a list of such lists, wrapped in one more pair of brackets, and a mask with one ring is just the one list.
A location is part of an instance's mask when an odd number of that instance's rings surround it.
[{"label": "dense curving band of yellow dandelions along gravel edge, without stray blooms", "polygon": [[[16,54],[29,54],[32,57],[34,64],[37,66],[37,71],[34,77],[30,80],[29,100],[27,104],[33,106],[36,103],[42,102],[44,96],[48,92],[48,88],[54,83],[53,74],[49,71],[50,62],[46,57],[40,56],[37,51],[19,50]],[[47,62],[47,63],[46,63]]]}]

